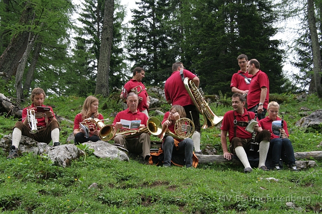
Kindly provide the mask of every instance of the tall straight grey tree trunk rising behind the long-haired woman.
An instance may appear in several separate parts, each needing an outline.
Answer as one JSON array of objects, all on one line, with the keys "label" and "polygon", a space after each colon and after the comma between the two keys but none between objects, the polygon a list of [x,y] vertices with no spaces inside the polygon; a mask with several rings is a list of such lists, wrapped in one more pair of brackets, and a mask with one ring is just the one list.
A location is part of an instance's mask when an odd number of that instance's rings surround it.
[{"label": "tall straight grey tree trunk rising behind the long-haired woman", "polygon": [[102,30],[102,41],[100,47],[100,59],[97,71],[97,83],[95,94],[102,94],[103,97],[109,96],[109,69],[111,49],[113,42],[113,14],[114,0],[105,0],[104,24]]}]

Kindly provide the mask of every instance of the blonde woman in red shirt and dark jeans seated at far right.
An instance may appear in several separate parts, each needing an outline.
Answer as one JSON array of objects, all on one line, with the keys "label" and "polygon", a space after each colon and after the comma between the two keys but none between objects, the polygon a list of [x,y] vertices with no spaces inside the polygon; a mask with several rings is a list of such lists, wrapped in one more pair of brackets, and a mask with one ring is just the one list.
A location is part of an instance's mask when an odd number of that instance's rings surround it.
[{"label": "blonde woman in red shirt and dark jeans seated at far right", "polygon": [[[276,135],[277,133],[274,133],[274,131],[272,130],[273,121],[281,121],[281,119],[277,116],[279,109],[280,105],[277,102],[270,102],[267,108],[268,117],[260,120],[259,124],[263,129],[266,129],[271,133],[270,150],[272,153],[272,162],[274,169],[282,169],[282,166],[280,165],[280,158],[281,154],[285,152],[288,160],[288,167],[293,171],[297,171],[293,146],[291,141],[288,139],[289,134],[286,121],[283,121],[283,128],[279,129],[280,132],[278,132],[278,135]],[[280,127],[281,126],[282,125],[280,124]]]}]

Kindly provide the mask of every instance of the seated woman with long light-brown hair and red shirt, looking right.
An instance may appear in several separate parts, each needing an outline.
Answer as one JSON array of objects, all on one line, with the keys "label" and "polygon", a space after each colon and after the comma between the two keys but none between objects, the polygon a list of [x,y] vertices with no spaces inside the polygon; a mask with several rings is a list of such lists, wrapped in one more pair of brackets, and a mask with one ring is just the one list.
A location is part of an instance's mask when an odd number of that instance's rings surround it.
[{"label": "seated woman with long light-brown hair and red shirt, looking right", "polygon": [[97,118],[99,120],[104,120],[103,116],[98,112],[99,99],[95,96],[88,96],[83,104],[82,112],[77,114],[74,120],[74,131],[75,145],[82,144],[88,141],[97,142],[100,139],[100,130],[95,127],[89,127],[89,138],[85,137],[85,130],[83,128],[79,129],[79,123],[83,122],[88,118]]}]

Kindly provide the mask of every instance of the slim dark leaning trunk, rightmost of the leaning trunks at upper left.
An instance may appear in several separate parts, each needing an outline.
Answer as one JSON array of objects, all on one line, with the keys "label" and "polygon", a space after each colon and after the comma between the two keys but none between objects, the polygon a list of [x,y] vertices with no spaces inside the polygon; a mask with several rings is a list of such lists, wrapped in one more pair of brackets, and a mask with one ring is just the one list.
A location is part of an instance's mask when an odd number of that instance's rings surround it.
[{"label": "slim dark leaning trunk, rightmost of the leaning trunks at upper left", "polygon": [[[38,38],[38,35],[36,37],[36,40]],[[31,59],[31,63],[30,63],[30,66],[29,66],[29,69],[28,69],[28,73],[27,73],[27,76],[26,76],[26,81],[24,83],[24,86],[23,86],[23,91],[26,92],[26,94],[24,94],[24,98],[26,98],[30,92],[30,85],[31,85],[31,82],[32,80],[34,79],[34,71],[36,69],[36,65],[37,65],[37,62],[38,62],[38,57],[39,57],[39,53],[41,51],[41,43],[38,42],[35,46],[35,49],[34,49],[34,54],[33,54],[33,57]]]}]

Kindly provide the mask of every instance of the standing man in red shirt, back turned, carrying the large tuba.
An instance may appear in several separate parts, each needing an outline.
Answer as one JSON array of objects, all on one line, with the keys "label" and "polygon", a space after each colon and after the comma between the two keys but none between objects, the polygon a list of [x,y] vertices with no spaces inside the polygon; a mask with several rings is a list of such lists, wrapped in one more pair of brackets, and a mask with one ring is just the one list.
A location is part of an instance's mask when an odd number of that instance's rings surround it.
[{"label": "standing man in red shirt, back turned, carrying the large tuba", "polygon": [[[183,71],[182,75],[180,74],[181,70]],[[185,85],[183,83],[183,79],[185,77],[189,77],[197,87],[199,86],[199,78],[195,74],[186,70],[182,62],[175,62],[172,65],[172,74],[167,79],[165,84],[165,96],[169,104],[183,106],[187,118],[192,120],[195,124],[196,131],[192,135],[195,153],[202,154],[200,150],[201,134],[199,112],[185,88]]]}]

